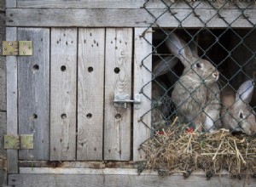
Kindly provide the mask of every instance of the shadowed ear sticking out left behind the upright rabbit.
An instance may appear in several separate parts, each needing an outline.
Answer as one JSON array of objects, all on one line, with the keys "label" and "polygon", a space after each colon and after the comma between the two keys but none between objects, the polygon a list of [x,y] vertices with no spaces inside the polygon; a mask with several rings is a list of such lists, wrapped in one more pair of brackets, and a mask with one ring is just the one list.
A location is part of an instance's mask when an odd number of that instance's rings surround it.
[{"label": "shadowed ear sticking out left behind the upright rabbit", "polygon": [[156,62],[156,65],[153,68],[154,76],[160,77],[170,70],[173,70],[173,67],[177,64],[177,61],[178,59],[174,56],[168,56],[165,59],[160,59],[160,61]]}]

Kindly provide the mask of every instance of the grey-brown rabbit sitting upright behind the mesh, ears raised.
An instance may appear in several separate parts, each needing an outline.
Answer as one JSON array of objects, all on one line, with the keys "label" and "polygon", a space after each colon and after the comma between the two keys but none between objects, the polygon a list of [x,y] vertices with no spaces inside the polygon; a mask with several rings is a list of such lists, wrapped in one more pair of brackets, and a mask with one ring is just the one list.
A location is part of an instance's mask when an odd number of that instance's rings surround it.
[{"label": "grey-brown rabbit sitting upright behind the mesh, ears raised", "polygon": [[205,131],[212,132],[221,126],[218,71],[209,61],[198,57],[196,45],[189,48],[173,32],[166,45],[184,65],[183,75],[172,92],[180,122],[193,122],[195,127],[202,125]]}]

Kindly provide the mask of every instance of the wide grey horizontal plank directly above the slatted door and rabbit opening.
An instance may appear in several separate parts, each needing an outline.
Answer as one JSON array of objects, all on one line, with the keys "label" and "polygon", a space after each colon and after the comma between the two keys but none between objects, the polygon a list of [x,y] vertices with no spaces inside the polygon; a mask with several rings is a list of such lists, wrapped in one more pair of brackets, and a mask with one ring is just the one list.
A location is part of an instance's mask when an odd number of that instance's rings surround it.
[{"label": "wide grey horizontal plank directly above the slatted door and rabbit opening", "polygon": [[[243,10],[252,23],[245,19],[240,9],[195,9],[195,14],[191,13],[191,9],[174,8],[172,13],[165,9],[150,11],[154,17],[160,17],[156,23],[161,27],[223,28],[231,24],[235,28],[253,27],[256,24],[256,8]],[[6,17],[7,26],[147,27],[154,23],[154,17],[145,9],[8,8]]]}]

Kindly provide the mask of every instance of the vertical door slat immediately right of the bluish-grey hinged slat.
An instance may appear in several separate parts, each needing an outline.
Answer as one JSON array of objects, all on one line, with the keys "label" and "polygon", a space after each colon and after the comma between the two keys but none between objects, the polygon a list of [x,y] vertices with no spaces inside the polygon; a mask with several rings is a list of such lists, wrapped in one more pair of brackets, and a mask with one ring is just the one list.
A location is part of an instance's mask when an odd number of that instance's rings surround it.
[{"label": "vertical door slat immediately right of the bluish-grey hinged slat", "polygon": [[76,159],[77,29],[52,28],[50,160]]}]

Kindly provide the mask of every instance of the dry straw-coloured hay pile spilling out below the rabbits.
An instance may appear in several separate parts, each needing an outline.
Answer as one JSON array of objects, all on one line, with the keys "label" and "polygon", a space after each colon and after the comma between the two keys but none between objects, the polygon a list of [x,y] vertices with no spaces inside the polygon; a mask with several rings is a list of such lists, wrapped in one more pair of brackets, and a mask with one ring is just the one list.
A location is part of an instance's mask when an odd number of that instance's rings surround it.
[{"label": "dry straw-coloured hay pile spilling out below the rabbits", "polygon": [[160,175],[203,169],[207,178],[225,169],[233,176],[256,173],[256,139],[245,134],[232,135],[220,129],[215,133],[183,130],[172,123],[166,131],[154,134],[142,144],[148,161],[144,169],[158,170]]}]

